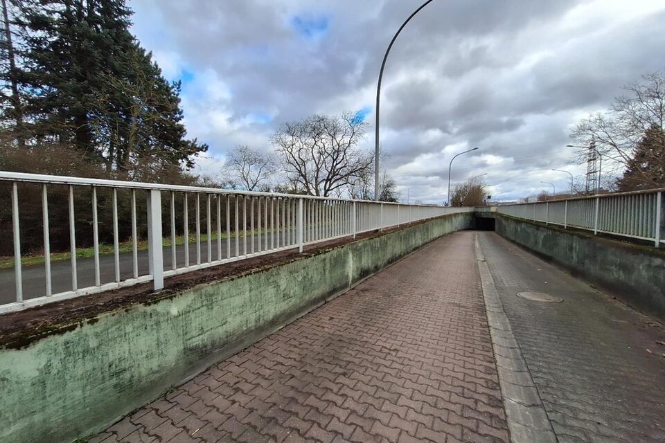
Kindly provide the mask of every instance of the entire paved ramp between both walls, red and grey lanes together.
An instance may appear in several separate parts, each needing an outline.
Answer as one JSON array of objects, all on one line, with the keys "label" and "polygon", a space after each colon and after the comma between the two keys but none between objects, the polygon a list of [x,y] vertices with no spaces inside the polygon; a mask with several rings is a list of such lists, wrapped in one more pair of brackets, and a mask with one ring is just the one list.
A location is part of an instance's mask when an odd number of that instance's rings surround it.
[{"label": "entire paved ramp between both walls, red and grey lanes together", "polygon": [[495,233],[463,231],[89,442],[664,441],[662,343],[662,325]]}]

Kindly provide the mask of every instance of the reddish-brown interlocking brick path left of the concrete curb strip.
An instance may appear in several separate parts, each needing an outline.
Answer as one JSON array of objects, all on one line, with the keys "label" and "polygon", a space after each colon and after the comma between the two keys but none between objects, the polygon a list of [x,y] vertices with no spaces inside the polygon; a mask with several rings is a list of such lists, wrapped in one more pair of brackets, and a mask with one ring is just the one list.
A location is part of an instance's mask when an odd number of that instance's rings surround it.
[{"label": "reddish-brown interlocking brick path left of the concrete curb strip", "polygon": [[508,442],[474,235],[425,246],[90,442]]}]

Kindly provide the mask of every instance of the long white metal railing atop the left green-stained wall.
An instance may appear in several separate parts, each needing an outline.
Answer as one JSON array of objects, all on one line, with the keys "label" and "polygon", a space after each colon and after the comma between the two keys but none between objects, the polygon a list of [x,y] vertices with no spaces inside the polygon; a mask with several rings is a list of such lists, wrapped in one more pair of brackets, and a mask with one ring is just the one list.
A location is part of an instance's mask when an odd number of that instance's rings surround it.
[{"label": "long white metal railing atop the left green-stained wall", "polygon": [[[355,238],[367,231],[474,210],[0,171],[1,183],[10,187],[15,284],[13,297],[7,296],[11,284],[2,289],[5,296],[0,298],[0,313],[141,282],[152,281],[154,290],[159,290],[163,288],[163,279],[171,275],[292,248],[302,252],[308,244]],[[40,192],[41,197],[43,268],[21,265],[21,186],[40,187],[35,192]],[[55,226],[49,226],[48,198],[55,187],[67,187],[64,199],[69,226],[57,226],[57,232],[67,232],[69,228],[69,263],[51,262],[50,235]],[[83,190],[90,193],[87,204],[90,204],[93,253],[91,259],[77,261],[80,221],[75,213],[81,208],[75,208],[75,197]],[[111,206],[112,257],[100,252],[98,198],[102,192]],[[141,235],[137,226],[143,215],[137,210],[137,201],[142,204],[141,199],[145,199],[146,207],[147,257],[139,251]],[[119,203],[130,208],[127,215],[131,224],[130,252],[121,252],[119,246]],[[178,232],[182,234],[181,244]],[[170,244],[163,246],[163,242]],[[54,266],[57,266],[55,272]],[[11,271],[0,271],[0,284],[8,280],[8,272]],[[35,280],[40,280],[39,291],[35,289]],[[24,282],[30,287],[24,287]]]}]

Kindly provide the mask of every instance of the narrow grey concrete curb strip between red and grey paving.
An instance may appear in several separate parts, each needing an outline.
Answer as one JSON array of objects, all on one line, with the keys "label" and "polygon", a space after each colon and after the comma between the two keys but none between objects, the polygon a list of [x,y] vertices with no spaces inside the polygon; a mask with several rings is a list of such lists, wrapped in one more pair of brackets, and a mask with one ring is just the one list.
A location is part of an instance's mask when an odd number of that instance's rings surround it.
[{"label": "narrow grey concrete curb strip between red and grey paving", "polygon": [[511,323],[504,311],[497,287],[483,251],[475,237],[476,259],[485,298],[494,355],[499,371],[499,385],[512,443],[556,443],[552,424],[547,417],[529,368],[515,341]]}]

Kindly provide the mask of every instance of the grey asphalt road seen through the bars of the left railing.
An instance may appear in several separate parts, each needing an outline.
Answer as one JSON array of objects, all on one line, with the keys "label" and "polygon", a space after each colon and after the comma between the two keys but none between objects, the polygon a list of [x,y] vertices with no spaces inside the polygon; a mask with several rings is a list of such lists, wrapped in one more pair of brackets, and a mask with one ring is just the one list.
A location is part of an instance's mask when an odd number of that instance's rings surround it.
[{"label": "grey asphalt road seen through the bars of the left railing", "polygon": [[[267,233],[268,247],[272,244],[272,233]],[[279,239],[280,246],[283,246],[285,233],[278,233],[275,237],[275,242]],[[247,240],[247,253],[251,253],[251,237],[245,239],[240,237],[238,239],[240,255],[244,255],[244,242]],[[258,235],[254,235],[254,251],[259,251],[259,241],[261,251],[265,246],[265,234],[262,234],[260,239]],[[212,241],[212,260],[218,260],[218,242],[217,239]],[[276,243],[275,243],[276,247]],[[127,280],[134,276],[134,260],[131,252],[120,254],[120,279]],[[170,246],[163,248],[164,257],[164,270],[172,269],[171,248]],[[236,239],[231,238],[231,255],[236,257]],[[189,244],[189,264],[190,266],[196,264],[196,244]],[[227,240],[222,239],[222,259],[227,258]],[[148,275],[148,251],[139,251],[137,254],[137,262],[139,264],[139,276]],[[176,246],[176,262],[177,267],[181,268],[185,265],[185,245]],[[201,242],[201,262],[208,262],[208,243],[207,241]],[[115,280],[115,259],[114,255],[100,255],[99,257],[100,268],[100,283],[110,283]],[[95,262],[94,258],[78,258],[76,260],[77,269],[77,282],[78,287],[92,287],[95,286]],[[44,264],[35,264],[31,266],[23,266],[21,269],[22,282],[23,282],[23,298],[28,300],[30,298],[37,298],[46,295],[46,270]],[[71,291],[71,262],[64,260],[60,262],[51,262],[51,286],[52,293],[60,293]],[[14,269],[3,269],[0,271],[0,305],[16,301],[16,284]]]}]

